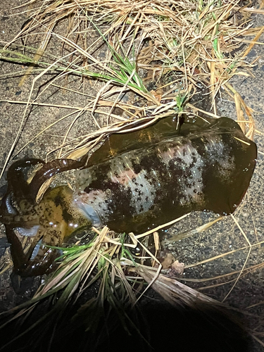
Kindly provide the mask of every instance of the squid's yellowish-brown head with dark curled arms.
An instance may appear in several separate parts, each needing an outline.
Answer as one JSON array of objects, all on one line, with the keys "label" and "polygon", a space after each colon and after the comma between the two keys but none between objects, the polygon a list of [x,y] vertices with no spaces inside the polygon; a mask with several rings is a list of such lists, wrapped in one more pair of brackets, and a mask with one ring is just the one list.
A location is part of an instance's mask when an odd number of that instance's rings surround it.
[{"label": "squid's yellowish-brown head with dark curled arms", "polygon": [[[92,225],[75,208],[73,191],[69,187],[49,189],[40,203],[35,201],[34,182],[27,184],[22,170],[36,163],[44,164],[39,159],[30,159],[11,165],[8,190],[0,207],[0,221],[6,227],[11,244],[14,271],[21,276],[43,275],[54,270],[58,251],[42,245],[61,246],[76,230]],[[27,253],[24,253],[17,234],[32,237]]]}]

